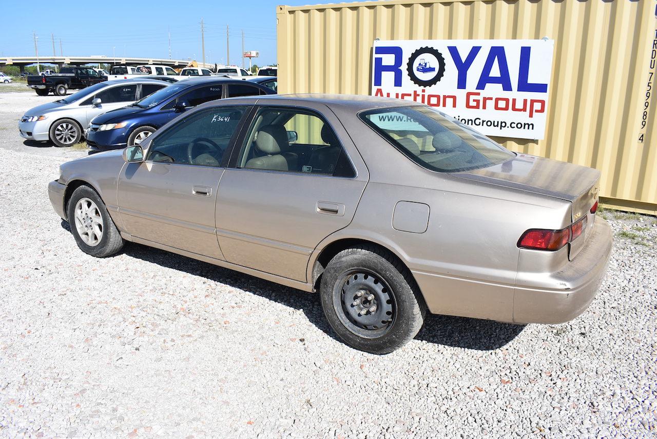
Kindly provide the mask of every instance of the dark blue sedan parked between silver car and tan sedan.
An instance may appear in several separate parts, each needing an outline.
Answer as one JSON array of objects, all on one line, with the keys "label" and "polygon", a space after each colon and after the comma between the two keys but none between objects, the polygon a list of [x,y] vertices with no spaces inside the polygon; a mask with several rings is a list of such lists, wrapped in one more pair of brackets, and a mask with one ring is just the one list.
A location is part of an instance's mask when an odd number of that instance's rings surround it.
[{"label": "dark blue sedan parked between silver car and tan sedan", "polygon": [[94,117],[86,131],[91,150],[136,145],[189,108],[221,98],[275,94],[269,87],[239,79],[198,77],[165,87],[134,104]]}]

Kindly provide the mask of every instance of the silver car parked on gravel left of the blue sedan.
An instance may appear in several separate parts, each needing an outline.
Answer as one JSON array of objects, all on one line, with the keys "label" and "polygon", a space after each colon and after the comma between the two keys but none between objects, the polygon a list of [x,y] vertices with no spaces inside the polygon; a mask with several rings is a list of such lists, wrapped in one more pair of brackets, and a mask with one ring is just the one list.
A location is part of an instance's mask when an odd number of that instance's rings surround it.
[{"label": "silver car parked on gravel left of the blue sedan", "polygon": [[89,121],[99,114],[122,108],[169,83],[156,79],[104,81],[64,98],[30,108],[18,122],[20,136],[71,146],[84,136]]}]

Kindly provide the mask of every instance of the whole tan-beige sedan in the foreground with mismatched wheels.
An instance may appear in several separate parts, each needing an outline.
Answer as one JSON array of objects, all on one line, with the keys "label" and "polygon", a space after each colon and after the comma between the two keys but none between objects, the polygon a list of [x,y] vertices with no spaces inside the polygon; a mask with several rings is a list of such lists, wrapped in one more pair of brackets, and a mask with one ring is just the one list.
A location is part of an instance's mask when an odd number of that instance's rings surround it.
[{"label": "whole tan-beige sedan in the foreground with mismatched wheels", "polygon": [[85,253],[132,241],[317,291],[340,339],[382,354],[426,312],[579,316],[612,247],[599,180],[427,106],[309,94],[207,102],[64,163],[49,194]]}]

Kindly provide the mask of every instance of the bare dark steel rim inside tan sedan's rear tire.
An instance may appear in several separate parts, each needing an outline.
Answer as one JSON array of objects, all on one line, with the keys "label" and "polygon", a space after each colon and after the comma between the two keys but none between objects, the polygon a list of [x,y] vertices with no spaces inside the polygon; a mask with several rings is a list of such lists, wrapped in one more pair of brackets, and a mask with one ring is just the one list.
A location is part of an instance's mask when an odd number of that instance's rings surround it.
[{"label": "bare dark steel rim inside tan sedan's rear tire", "polygon": [[377,338],[388,333],[395,320],[395,297],[384,280],[357,268],[340,276],[333,294],[340,322],[355,335]]}]

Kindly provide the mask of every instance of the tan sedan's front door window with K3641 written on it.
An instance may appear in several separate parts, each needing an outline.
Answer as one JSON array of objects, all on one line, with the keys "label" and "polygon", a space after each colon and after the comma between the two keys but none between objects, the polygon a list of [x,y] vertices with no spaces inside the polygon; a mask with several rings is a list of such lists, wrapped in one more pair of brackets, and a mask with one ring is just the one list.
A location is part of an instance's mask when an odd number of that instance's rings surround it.
[{"label": "tan sedan's front door window with K3641 written on it", "polygon": [[215,107],[183,117],[154,138],[147,160],[218,167],[246,110],[243,106]]}]

